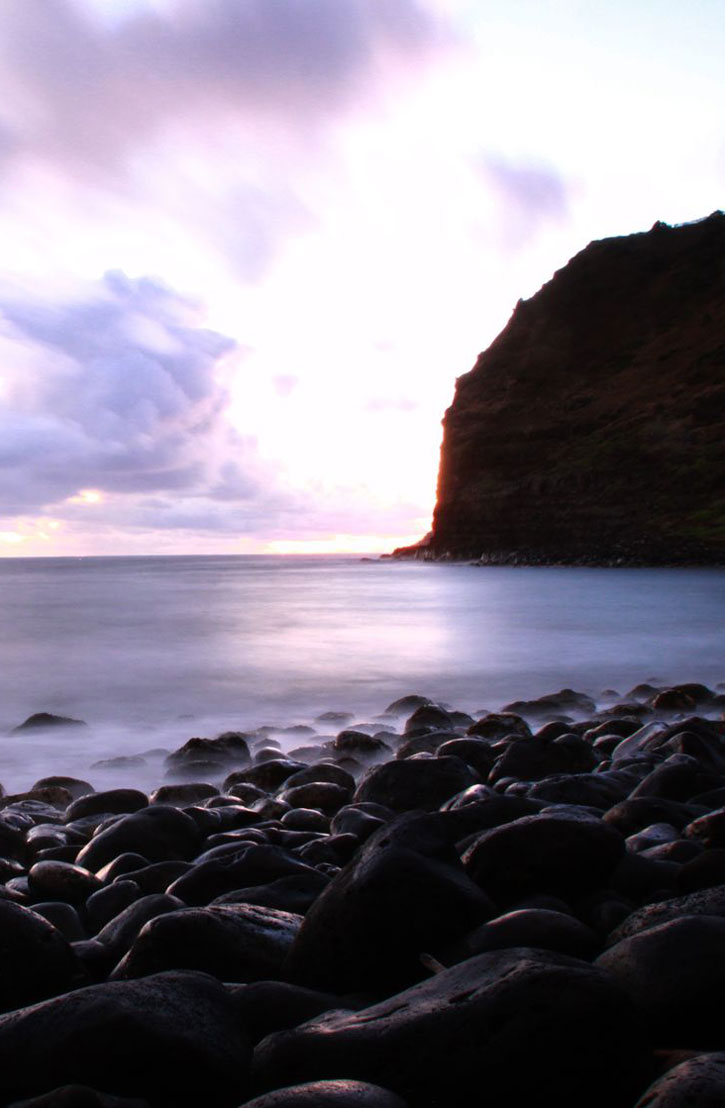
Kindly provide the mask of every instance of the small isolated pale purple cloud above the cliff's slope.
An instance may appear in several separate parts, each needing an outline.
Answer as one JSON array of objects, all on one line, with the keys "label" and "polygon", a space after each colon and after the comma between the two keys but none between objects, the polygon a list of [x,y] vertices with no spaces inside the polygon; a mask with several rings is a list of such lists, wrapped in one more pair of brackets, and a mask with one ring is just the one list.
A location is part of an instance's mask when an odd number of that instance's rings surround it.
[{"label": "small isolated pale purple cloud above the cliff's slope", "polygon": [[487,154],[478,167],[497,201],[509,245],[523,246],[545,224],[561,223],[569,215],[566,182],[551,166]]}]

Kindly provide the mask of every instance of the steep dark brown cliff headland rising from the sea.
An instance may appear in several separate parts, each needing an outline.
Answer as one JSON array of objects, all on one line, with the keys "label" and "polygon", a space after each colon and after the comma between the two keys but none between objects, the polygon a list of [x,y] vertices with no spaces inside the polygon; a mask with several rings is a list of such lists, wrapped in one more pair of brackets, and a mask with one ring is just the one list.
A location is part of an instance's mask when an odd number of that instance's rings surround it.
[{"label": "steep dark brown cliff headland rising from the sea", "polygon": [[725,215],[592,243],[458,381],[419,556],[725,562]]}]

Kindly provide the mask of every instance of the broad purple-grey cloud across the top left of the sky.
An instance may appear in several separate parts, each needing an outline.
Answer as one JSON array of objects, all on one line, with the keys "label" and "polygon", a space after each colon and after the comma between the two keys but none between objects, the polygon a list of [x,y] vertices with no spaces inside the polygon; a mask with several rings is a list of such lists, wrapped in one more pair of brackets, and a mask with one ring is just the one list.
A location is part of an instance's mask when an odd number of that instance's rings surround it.
[{"label": "broad purple-grey cloud across the top left of the sky", "polygon": [[27,154],[84,172],[210,113],[338,115],[385,59],[415,63],[446,40],[417,0],[176,0],[109,23],[80,0],[7,0],[0,13],[6,125]]}]

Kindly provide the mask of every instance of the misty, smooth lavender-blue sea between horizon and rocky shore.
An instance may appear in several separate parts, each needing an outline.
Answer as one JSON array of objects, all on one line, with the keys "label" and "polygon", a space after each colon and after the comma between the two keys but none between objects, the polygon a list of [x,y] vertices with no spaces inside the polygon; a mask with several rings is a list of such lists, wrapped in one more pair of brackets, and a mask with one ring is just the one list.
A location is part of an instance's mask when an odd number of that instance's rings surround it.
[{"label": "misty, smooth lavender-blue sea between horizon and rocky shore", "polygon": [[[0,735],[34,711],[91,725],[0,738],[6,789],[50,772],[122,784],[89,767],[329,709],[369,720],[407,693],[473,710],[562,686],[725,680],[721,570],[6,558],[0,613]],[[133,776],[160,780],[159,756]]]}]

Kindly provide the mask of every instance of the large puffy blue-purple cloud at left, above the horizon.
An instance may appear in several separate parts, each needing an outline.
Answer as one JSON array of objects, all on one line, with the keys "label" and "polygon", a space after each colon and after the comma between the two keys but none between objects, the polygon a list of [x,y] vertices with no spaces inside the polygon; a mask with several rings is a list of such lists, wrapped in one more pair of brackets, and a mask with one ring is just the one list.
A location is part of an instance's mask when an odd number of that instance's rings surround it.
[{"label": "large puffy blue-purple cloud at left, above the horizon", "polygon": [[[254,442],[226,422],[232,339],[160,281],[110,273],[62,305],[0,294],[0,512],[79,489],[229,500],[256,491]],[[85,511],[85,509],[80,509]]]}]

